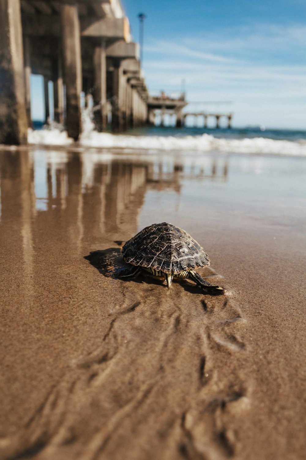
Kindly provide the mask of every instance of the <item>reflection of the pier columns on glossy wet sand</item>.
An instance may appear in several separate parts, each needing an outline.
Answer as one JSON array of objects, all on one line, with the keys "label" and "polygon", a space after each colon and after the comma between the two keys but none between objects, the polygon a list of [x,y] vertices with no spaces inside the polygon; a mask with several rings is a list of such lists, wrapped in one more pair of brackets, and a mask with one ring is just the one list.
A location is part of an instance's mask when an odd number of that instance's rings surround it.
[{"label": "reflection of the pier columns on glossy wet sand", "polygon": [[[37,211],[61,215],[74,242],[91,233],[136,230],[137,215],[148,190],[180,193],[182,180],[226,181],[227,163],[204,168],[175,159],[125,161],[110,155],[52,151],[2,152],[0,184],[2,225],[12,216],[31,246],[31,220]],[[13,190],[13,193],[12,193]],[[9,209],[9,210],[8,210]],[[56,209],[56,211],[55,211]]]}]

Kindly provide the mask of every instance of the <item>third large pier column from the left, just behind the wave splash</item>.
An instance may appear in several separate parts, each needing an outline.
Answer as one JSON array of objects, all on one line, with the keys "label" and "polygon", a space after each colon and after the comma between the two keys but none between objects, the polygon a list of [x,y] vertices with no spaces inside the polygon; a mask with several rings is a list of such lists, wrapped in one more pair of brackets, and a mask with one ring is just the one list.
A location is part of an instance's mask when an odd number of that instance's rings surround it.
[{"label": "third large pier column from the left, just behind the wave splash", "polygon": [[94,78],[94,106],[100,105],[100,109],[94,114],[95,123],[98,131],[106,131],[106,40],[103,38],[94,51]]}]

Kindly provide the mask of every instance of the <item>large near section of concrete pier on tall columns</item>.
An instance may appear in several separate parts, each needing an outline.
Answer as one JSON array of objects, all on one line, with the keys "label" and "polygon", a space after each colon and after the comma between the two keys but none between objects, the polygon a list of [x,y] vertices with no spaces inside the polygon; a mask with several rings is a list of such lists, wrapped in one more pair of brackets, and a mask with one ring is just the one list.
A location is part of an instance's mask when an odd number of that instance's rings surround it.
[{"label": "large near section of concrete pier on tall columns", "polygon": [[45,121],[53,86],[55,121],[82,132],[81,95],[98,131],[142,126],[149,98],[119,0],[0,0],[0,144],[24,144],[31,119],[31,74],[45,81]]}]

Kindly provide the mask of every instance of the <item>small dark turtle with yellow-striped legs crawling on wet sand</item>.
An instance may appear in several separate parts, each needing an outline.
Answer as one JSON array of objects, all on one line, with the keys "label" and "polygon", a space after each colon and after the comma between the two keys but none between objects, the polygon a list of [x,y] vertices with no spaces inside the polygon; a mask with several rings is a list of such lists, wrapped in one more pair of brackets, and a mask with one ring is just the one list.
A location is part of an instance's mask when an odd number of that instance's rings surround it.
[{"label": "small dark turtle with yellow-striped legs crawling on wet sand", "polygon": [[210,265],[200,246],[185,230],[162,222],[145,227],[122,247],[122,256],[131,267],[122,270],[120,278],[135,278],[141,271],[158,279],[165,279],[171,287],[172,279],[189,279],[204,291],[224,293],[224,289],[205,281],[194,269]]}]

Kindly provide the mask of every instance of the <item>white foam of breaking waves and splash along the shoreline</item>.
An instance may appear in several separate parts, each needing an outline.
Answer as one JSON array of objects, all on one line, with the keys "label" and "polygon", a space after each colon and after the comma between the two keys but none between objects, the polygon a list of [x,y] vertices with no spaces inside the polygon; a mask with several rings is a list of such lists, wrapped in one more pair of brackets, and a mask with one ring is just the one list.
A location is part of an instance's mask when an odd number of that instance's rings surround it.
[{"label": "white foam of breaking waves and splash along the shoreline", "polygon": [[[41,145],[72,145],[73,139],[68,138],[66,131],[57,126],[48,129],[28,130],[28,142]],[[91,115],[83,112],[83,133],[76,146],[102,149],[133,149],[133,150],[178,150],[195,152],[223,152],[245,155],[294,155],[306,156],[306,141],[274,140],[270,138],[215,138],[210,134],[200,136],[133,136],[111,134],[94,131]]]}]

